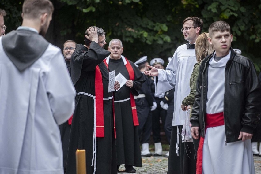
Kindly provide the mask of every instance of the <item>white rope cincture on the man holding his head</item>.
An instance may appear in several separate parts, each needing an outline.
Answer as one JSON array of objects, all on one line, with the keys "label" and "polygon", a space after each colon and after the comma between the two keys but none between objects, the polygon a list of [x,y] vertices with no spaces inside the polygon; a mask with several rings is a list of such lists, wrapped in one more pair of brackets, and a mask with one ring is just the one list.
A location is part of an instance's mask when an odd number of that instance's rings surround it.
[{"label": "white rope cincture on the man holding his head", "polygon": [[[86,92],[78,92],[77,95],[87,95],[89,97],[93,98],[93,159],[92,159],[92,167],[93,168],[93,174],[96,172],[96,155],[97,155],[97,138],[96,138],[96,97],[88,94]],[[113,96],[111,97],[104,97],[103,100],[111,100]]]}]

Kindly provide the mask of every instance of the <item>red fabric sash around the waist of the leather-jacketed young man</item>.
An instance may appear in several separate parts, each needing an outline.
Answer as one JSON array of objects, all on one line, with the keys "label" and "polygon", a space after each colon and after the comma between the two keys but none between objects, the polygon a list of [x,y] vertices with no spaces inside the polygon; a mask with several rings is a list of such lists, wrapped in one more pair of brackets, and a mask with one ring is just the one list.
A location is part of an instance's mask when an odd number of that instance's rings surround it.
[{"label": "red fabric sash around the waist of the leather-jacketed young man", "polygon": [[[224,113],[214,113],[214,114],[206,114],[206,129],[216,126],[224,125]],[[206,132],[206,130],[205,130]],[[197,153],[197,174],[202,174],[202,161],[203,161],[203,144],[204,137],[200,137],[199,139],[199,149]]]}]

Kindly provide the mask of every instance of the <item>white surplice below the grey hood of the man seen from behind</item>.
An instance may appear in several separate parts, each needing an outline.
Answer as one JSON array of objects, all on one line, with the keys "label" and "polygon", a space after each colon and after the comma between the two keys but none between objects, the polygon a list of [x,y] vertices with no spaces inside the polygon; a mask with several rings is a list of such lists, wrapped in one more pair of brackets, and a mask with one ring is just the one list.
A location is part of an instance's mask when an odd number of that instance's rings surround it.
[{"label": "white surplice below the grey hood of the man seen from behind", "polygon": [[62,174],[58,125],[74,112],[76,92],[61,50],[49,43],[21,72],[1,37],[0,55],[0,174]]}]

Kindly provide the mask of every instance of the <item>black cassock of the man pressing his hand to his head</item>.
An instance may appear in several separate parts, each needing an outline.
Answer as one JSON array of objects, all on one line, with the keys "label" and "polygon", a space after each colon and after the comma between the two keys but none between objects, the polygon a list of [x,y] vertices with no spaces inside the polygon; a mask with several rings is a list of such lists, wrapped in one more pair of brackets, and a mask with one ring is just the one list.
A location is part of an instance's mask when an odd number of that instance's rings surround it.
[{"label": "black cassock of the man pressing his hand to his head", "polygon": [[[88,51],[88,52],[86,52]],[[111,97],[108,93],[109,72],[104,58],[110,54],[96,42],[90,49],[79,44],[71,57],[71,76],[76,92],[85,92],[95,96],[95,67],[99,65],[102,74],[103,97]],[[66,174],[76,173],[75,151],[86,150],[87,173],[93,173],[93,105],[94,100],[87,95],[77,95],[73,114]],[[116,143],[114,138],[112,99],[104,100],[104,138],[97,137],[97,174],[117,174]]]}]

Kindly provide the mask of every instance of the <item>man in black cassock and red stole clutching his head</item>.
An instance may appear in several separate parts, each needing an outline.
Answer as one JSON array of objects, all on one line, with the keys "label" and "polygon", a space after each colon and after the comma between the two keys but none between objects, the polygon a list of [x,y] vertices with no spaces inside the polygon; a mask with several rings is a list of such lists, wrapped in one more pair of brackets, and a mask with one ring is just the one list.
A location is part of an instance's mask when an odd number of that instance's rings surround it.
[{"label": "man in black cassock and red stole clutching his head", "polygon": [[[110,54],[104,50],[105,40],[102,28],[87,28],[85,45],[78,44],[71,57],[71,77],[77,96],[66,174],[76,173],[77,149],[86,150],[88,174],[117,174],[113,92],[108,93],[109,70],[103,62]],[[119,82],[115,82],[114,88],[119,89]]]}]

